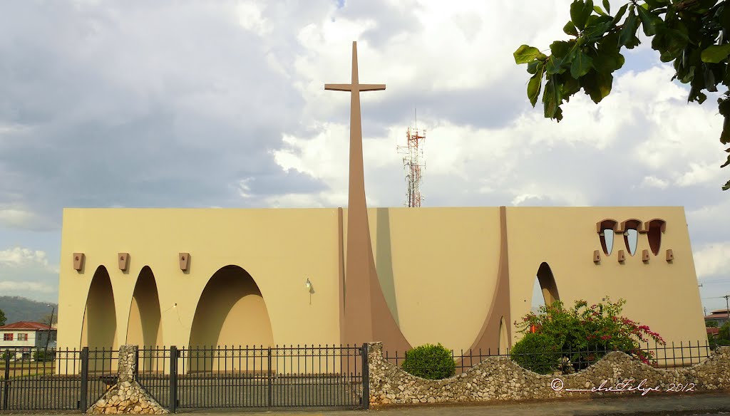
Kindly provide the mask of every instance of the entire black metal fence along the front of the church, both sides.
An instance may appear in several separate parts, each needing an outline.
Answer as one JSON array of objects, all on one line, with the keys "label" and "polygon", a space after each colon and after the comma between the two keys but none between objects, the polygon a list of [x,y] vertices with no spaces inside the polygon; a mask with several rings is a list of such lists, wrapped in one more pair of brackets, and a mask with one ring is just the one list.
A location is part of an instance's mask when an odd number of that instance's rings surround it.
[{"label": "entire black metal fence along the front of the church, both sides", "polygon": [[[629,351],[660,368],[691,366],[712,354],[701,342],[642,345]],[[450,353],[456,374],[485,358],[507,356],[523,366],[550,363],[542,372],[579,371],[610,350]],[[0,350],[0,412],[85,411],[118,380],[118,350]],[[406,355],[385,352],[402,366]],[[447,357],[449,358],[449,357]],[[448,361],[448,360],[447,360]],[[419,366],[438,364],[429,357]],[[135,379],[161,406],[178,409],[368,407],[367,346],[145,347]]]}]

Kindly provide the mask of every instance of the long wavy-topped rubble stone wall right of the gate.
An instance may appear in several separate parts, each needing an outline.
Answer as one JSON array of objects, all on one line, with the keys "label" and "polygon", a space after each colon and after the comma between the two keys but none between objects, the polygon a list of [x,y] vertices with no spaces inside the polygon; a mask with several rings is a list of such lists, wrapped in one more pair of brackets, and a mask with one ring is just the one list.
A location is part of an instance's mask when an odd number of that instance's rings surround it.
[{"label": "long wavy-topped rubble stone wall right of the gate", "polygon": [[730,347],[681,369],[655,369],[615,352],[583,371],[551,376],[523,369],[507,357],[489,357],[463,374],[425,380],[386,361],[383,344],[374,342],[369,344],[368,365],[370,404],[374,406],[730,389]]}]

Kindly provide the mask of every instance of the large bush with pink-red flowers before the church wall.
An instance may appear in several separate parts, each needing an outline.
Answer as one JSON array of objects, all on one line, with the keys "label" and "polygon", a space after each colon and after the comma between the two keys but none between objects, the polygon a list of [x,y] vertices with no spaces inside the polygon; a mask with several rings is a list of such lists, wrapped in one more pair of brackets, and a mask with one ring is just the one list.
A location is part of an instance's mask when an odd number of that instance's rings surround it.
[{"label": "large bush with pink-red flowers before the church wall", "polygon": [[624,304],[624,299],[612,302],[610,298],[603,298],[602,303],[591,306],[586,301],[576,301],[571,309],[566,309],[561,301],[556,301],[540,307],[537,314],[530,312],[520,322],[515,322],[515,326],[522,334],[535,332],[552,339],[576,370],[614,350],[650,364],[653,355],[642,350],[639,342],[653,339],[658,344],[665,344],[664,339],[648,326],[622,317]]}]

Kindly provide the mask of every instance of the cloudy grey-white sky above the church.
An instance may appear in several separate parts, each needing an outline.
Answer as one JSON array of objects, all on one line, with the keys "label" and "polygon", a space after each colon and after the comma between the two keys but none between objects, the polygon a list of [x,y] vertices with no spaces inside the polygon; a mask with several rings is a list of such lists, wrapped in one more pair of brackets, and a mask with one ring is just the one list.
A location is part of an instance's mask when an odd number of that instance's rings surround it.
[{"label": "cloudy grey-white sky above the church", "polygon": [[[58,298],[64,207],[345,207],[358,41],[370,207],[683,206],[704,307],[730,293],[722,119],[688,104],[649,42],[564,120],[512,53],[565,39],[569,0],[4,1],[0,296]],[[618,9],[621,1],[613,2]],[[616,168],[619,169],[616,169]],[[598,184],[598,185],[596,185]]]}]

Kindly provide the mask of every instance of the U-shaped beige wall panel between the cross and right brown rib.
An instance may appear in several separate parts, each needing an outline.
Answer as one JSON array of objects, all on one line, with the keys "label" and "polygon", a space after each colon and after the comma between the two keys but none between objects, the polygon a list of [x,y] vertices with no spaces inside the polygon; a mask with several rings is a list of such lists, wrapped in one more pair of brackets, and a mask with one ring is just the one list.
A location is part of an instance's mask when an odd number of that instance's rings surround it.
[{"label": "U-shaped beige wall panel between the cross and right brown rib", "polygon": [[371,208],[368,220],[380,286],[408,342],[469,348],[496,286],[499,207]]}]

